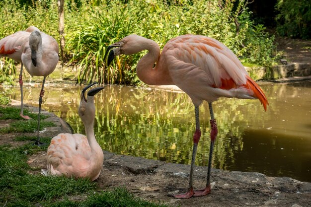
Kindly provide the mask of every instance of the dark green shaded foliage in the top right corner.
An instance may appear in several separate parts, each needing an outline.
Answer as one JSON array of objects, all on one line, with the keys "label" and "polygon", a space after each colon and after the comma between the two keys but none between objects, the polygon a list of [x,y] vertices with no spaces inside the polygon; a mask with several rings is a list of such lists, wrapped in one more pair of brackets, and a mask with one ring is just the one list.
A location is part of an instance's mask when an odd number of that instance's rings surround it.
[{"label": "dark green shaded foliage in the top right corner", "polygon": [[278,0],[277,32],[291,38],[311,38],[311,1]]}]

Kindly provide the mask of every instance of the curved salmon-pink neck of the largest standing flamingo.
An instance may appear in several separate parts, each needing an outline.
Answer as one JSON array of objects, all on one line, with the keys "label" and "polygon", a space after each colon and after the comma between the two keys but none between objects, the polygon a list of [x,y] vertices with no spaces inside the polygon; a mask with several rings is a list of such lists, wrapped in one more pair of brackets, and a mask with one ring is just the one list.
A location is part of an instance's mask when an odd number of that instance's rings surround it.
[{"label": "curved salmon-pink neck of the largest standing flamingo", "polygon": [[[158,63],[160,47],[155,41],[146,39],[145,49],[149,52],[137,64],[137,76],[148,85],[173,84],[169,73],[162,64]],[[156,63],[157,62],[157,63]],[[153,68],[156,63],[156,67]]]}]

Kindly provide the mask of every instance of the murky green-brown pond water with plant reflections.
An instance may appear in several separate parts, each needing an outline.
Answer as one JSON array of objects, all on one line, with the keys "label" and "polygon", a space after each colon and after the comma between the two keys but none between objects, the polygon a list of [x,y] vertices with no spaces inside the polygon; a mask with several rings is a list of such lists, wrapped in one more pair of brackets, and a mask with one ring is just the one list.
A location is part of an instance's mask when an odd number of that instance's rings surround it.
[{"label": "murky green-brown pond water with plant reflections", "polygon": [[[261,85],[270,106],[258,100],[220,99],[214,103],[219,136],[213,167],[261,172],[311,182],[311,81]],[[20,100],[18,84],[0,88]],[[40,83],[24,87],[25,103],[38,105]],[[43,109],[84,133],[78,118],[81,87],[47,84]],[[194,107],[184,93],[106,86],[96,96],[95,134],[103,149],[190,164]],[[200,107],[202,137],[196,164],[206,166],[210,145],[208,104]]]}]

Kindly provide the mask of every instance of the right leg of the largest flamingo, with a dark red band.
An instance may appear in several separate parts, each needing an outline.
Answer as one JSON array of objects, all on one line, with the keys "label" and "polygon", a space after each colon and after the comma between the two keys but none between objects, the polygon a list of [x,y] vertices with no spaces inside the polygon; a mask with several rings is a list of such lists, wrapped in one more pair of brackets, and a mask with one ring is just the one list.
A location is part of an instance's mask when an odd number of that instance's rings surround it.
[{"label": "right leg of the largest flamingo, with a dark red band", "polygon": [[208,163],[208,169],[207,169],[206,187],[203,190],[195,191],[194,195],[193,195],[194,197],[205,196],[205,195],[211,193],[211,182],[210,182],[211,166],[212,166],[214,143],[215,143],[215,140],[217,138],[218,129],[217,129],[216,119],[214,118],[212,103],[209,103],[209,108],[210,108],[210,114],[211,114],[211,120],[210,120],[210,124],[211,124],[211,146],[210,146],[210,157],[209,157],[209,163]]}]

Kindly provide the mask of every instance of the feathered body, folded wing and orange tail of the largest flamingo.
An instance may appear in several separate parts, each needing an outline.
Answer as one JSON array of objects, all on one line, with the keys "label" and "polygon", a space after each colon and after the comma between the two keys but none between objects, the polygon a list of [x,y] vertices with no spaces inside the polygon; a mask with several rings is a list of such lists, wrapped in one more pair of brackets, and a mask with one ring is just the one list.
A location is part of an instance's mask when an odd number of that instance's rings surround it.
[{"label": "feathered body, folded wing and orange tail of the largest flamingo", "polygon": [[268,102],[260,87],[233,52],[215,39],[200,35],[173,38],[164,46],[161,61],[195,105],[221,96],[258,98],[266,110]]}]

